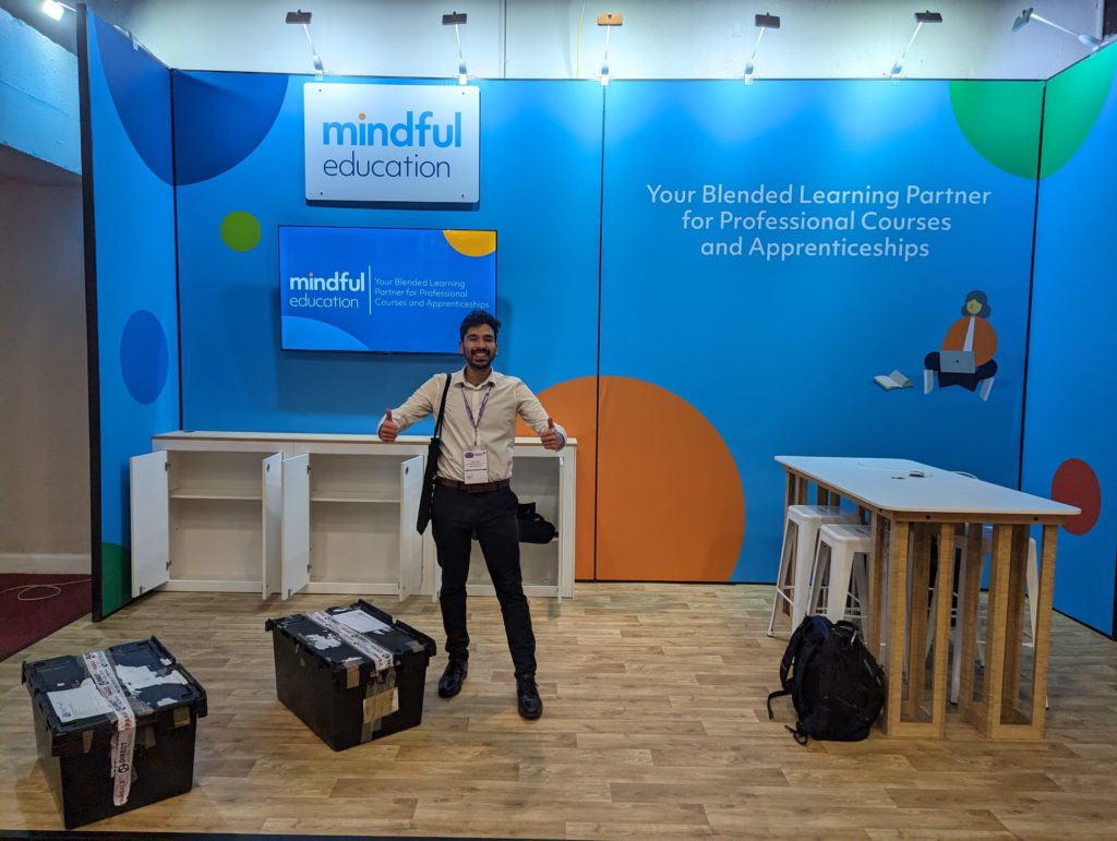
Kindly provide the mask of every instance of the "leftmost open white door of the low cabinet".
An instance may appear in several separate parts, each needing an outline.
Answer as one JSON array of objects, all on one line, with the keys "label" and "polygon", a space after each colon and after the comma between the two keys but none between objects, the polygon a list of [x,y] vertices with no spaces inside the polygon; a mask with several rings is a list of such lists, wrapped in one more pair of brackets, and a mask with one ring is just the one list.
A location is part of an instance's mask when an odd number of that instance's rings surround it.
[{"label": "leftmost open white door of the low cabinet", "polygon": [[128,459],[132,474],[132,598],[165,584],[171,570],[166,452]]}]

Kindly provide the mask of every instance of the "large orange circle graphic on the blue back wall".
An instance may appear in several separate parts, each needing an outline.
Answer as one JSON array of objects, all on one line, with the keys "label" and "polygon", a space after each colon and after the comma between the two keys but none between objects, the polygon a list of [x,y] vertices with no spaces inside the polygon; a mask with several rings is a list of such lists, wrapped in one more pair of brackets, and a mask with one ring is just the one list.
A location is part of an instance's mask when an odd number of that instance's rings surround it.
[{"label": "large orange circle graphic on the blue back wall", "polygon": [[601,378],[599,415],[598,383],[586,376],[540,393],[579,442],[575,575],[728,581],[745,498],[722,436],[677,394],[623,376]]}]

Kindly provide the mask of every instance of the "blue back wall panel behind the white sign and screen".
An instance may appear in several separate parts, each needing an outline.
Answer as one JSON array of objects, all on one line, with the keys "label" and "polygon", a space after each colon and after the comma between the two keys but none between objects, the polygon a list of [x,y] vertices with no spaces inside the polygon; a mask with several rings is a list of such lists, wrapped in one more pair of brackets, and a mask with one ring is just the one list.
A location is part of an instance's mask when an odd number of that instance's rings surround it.
[{"label": "blue back wall panel behind the white sign and screen", "polygon": [[[595,373],[600,85],[479,83],[479,203],[397,209],[307,203],[313,77],[173,77],[185,427],[370,433],[386,407],[460,364],[280,351],[279,226],[496,230],[497,366],[537,392]],[[331,79],[344,82],[420,84]]]}]

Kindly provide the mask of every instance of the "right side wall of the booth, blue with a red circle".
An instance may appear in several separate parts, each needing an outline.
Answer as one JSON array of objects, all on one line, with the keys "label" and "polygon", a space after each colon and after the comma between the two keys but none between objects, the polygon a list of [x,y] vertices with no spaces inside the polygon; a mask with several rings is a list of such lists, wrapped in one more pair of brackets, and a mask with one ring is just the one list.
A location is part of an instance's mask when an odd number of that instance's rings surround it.
[{"label": "right side wall of the booth, blue with a red circle", "polygon": [[1022,488],[1076,505],[1060,531],[1054,606],[1117,633],[1117,47],[1048,83]]}]

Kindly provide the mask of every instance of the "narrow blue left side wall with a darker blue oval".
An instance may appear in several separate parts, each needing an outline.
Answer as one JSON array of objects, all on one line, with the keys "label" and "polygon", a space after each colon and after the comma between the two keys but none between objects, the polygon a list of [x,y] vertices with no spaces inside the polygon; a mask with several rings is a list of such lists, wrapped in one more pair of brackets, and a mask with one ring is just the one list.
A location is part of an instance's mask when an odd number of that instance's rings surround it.
[{"label": "narrow blue left side wall with a darker blue oval", "polygon": [[128,458],[149,451],[152,434],[179,426],[174,179],[170,73],[96,16],[83,23],[86,283],[96,317],[90,389],[99,401],[99,411],[90,412],[90,447],[99,461],[99,474],[93,471],[99,484],[93,523],[99,618],[132,598]]}]

